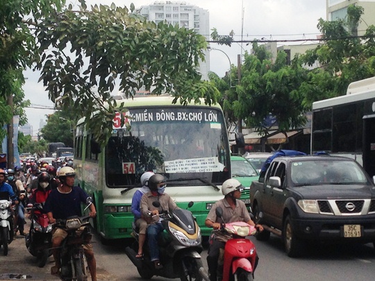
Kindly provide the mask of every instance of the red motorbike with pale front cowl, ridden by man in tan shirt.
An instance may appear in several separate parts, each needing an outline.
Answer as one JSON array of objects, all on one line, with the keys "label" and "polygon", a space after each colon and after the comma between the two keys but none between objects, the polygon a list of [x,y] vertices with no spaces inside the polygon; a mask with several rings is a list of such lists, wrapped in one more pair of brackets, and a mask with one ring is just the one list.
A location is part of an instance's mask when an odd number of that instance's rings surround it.
[{"label": "red motorbike with pale front cowl, ridden by man in tan shirt", "polygon": [[[217,207],[216,215],[222,218],[222,208]],[[224,256],[219,257],[218,264],[222,264],[222,281],[253,281],[253,272],[257,264],[256,247],[245,237],[256,235],[257,229],[253,225],[242,221],[222,223],[220,230],[232,235],[224,247]]]}]

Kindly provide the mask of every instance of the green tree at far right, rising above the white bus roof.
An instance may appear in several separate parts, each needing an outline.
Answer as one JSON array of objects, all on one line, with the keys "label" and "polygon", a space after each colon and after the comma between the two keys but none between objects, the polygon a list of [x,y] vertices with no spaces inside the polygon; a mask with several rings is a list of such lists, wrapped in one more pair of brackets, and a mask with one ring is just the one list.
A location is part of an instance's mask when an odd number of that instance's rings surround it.
[{"label": "green tree at far right, rising above the white bus roof", "polygon": [[322,67],[310,71],[301,85],[308,108],[314,101],[346,94],[348,85],[356,80],[375,76],[375,26],[369,26],[363,37],[356,28],[363,8],[350,5],[347,17],[333,22],[319,19],[318,28],[324,43],[301,56],[302,62]]}]

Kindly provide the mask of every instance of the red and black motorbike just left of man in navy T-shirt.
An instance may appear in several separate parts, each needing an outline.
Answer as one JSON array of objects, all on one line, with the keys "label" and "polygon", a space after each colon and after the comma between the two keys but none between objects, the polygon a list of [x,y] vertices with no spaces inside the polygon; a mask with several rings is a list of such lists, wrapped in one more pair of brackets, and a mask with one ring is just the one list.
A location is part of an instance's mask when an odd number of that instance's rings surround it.
[{"label": "red and black motorbike just left of man in navy T-shirt", "polygon": [[30,231],[25,236],[26,248],[31,255],[37,257],[38,266],[47,264],[52,255],[51,238],[53,225],[49,223],[47,214],[43,213],[42,203],[29,204],[26,210],[31,210]]}]

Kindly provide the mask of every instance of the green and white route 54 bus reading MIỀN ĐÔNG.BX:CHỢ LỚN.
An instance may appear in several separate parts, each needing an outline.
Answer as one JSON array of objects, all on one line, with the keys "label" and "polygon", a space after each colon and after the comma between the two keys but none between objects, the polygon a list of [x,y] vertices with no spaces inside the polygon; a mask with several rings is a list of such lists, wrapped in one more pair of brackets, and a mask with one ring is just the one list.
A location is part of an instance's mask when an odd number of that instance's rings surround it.
[{"label": "green and white route 54 bus reading MI\u1ec0N \u0110\u00d4NG.BX:CH\u1ee2 L\u1edaN", "polygon": [[131,237],[131,201],[145,171],[167,178],[166,192],[197,218],[201,235],[212,229],[204,221],[223,198],[222,182],[231,177],[231,151],[219,105],[181,105],[172,96],[124,99],[125,125],[113,119],[112,136],[98,149],[92,134],[78,121],[74,142],[76,179],[94,198],[93,226],[102,241]]}]

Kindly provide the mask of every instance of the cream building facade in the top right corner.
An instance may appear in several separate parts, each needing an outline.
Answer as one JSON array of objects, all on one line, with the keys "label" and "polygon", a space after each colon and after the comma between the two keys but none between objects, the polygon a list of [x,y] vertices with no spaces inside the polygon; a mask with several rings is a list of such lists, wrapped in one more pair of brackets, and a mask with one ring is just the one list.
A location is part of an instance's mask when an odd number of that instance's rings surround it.
[{"label": "cream building facade in the top right corner", "polygon": [[326,0],[327,19],[334,21],[347,16],[347,8],[351,4],[363,7],[363,15],[358,25],[358,36],[365,35],[366,29],[375,24],[375,0]]}]

